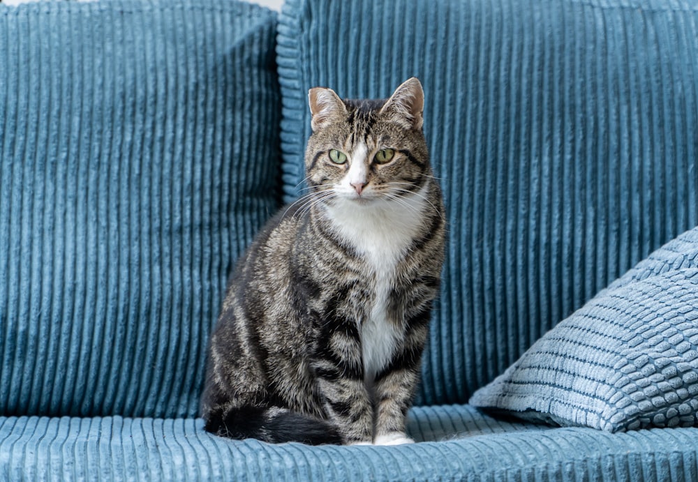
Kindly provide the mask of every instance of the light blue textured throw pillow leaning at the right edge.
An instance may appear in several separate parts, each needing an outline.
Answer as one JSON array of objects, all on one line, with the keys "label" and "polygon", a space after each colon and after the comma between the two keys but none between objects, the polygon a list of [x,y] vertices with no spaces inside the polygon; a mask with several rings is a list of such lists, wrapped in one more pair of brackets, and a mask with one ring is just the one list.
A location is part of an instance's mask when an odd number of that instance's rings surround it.
[{"label": "light blue textured throw pillow leaning at the right edge", "polygon": [[611,432],[698,421],[698,228],[546,333],[470,403]]}]

